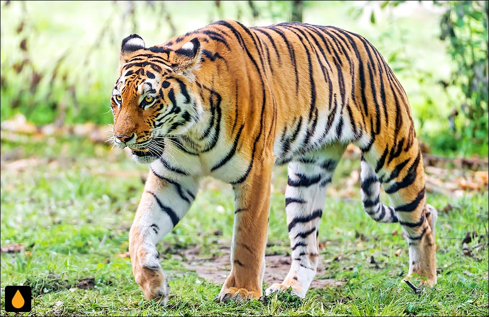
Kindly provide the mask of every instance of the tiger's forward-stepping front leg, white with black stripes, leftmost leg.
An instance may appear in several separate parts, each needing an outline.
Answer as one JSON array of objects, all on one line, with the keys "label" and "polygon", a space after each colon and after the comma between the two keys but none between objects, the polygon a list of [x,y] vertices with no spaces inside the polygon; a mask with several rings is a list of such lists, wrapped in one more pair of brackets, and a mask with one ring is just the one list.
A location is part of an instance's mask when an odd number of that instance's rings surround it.
[{"label": "tiger's forward-stepping front leg, white with black stripes, leftmost leg", "polygon": [[187,213],[197,191],[190,176],[172,175],[153,163],[129,232],[133,275],[148,299],[168,301],[169,287],[161,269],[156,242]]}]

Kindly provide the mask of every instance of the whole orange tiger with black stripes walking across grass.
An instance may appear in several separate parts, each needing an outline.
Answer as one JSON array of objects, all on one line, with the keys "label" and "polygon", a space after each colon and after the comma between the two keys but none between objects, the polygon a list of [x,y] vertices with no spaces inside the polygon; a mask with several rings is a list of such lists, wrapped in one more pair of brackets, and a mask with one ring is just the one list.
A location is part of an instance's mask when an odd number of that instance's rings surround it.
[{"label": "whole orange tiger with black stripes walking across grass", "polygon": [[[437,211],[426,202],[409,102],[364,37],[334,26],[232,20],[151,47],[132,34],[120,46],[111,109],[113,142],[150,163],[129,232],[133,276],[148,299],[168,301],[156,243],[190,209],[203,176],[234,192],[231,271],[216,300],[304,298],[318,266],[326,187],[350,144],[361,150],[364,210],[400,224],[407,276],[436,284]],[[291,265],[264,293],[271,171],[285,164]],[[393,207],[380,202],[380,185]]]}]

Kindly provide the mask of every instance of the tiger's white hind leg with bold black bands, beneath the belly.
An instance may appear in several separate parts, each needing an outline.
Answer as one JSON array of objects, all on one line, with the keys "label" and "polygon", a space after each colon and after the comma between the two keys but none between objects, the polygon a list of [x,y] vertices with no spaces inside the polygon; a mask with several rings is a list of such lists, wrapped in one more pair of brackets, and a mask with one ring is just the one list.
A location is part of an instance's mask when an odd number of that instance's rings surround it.
[{"label": "tiger's white hind leg with bold black bands, beneath the belly", "polygon": [[325,203],[326,185],[343,155],[343,145],[311,152],[289,163],[286,190],[287,223],[291,252],[289,274],[282,283],[267,288],[266,295],[284,292],[304,298],[316,275],[319,260],[318,229]]}]

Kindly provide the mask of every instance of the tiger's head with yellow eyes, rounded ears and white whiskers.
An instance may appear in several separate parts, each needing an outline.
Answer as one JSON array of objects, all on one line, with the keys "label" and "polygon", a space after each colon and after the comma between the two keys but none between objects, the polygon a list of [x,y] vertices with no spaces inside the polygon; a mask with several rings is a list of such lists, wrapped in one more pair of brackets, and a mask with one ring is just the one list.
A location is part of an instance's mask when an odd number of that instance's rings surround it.
[{"label": "tiger's head with yellow eyes, rounded ears and white whiskers", "polygon": [[122,41],[111,97],[113,142],[131,148],[136,162],[156,160],[165,150],[165,139],[196,123],[202,110],[193,92],[193,70],[199,60],[197,38],[178,49],[145,48],[137,34]]}]

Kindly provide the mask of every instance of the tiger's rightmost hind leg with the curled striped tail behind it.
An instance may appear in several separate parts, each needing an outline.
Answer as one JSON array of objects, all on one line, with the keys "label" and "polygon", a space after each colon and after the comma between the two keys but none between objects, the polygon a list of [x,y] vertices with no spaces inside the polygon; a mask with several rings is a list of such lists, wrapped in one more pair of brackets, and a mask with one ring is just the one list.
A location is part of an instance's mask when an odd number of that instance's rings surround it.
[{"label": "tiger's rightmost hind leg with the curled striped tail behind it", "polygon": [[[410,151],[407,162],[396,162],[395,168],[388,170],[379,166],[382,160],[369,160],[362,157],[361,190],[365,211],[379,222],[399,222],[409,244],[409,272],[421,277],[422,284],[436,284],[436,209],[426,203],[424,170],[419,148]],[[407,163],[406,163],[407,162]],[[377,172],[373,166],[377,165]],[[378,178],[379,177],[379,178]],[[379,202],[379,184],[388,194],[394,208]]]}]

